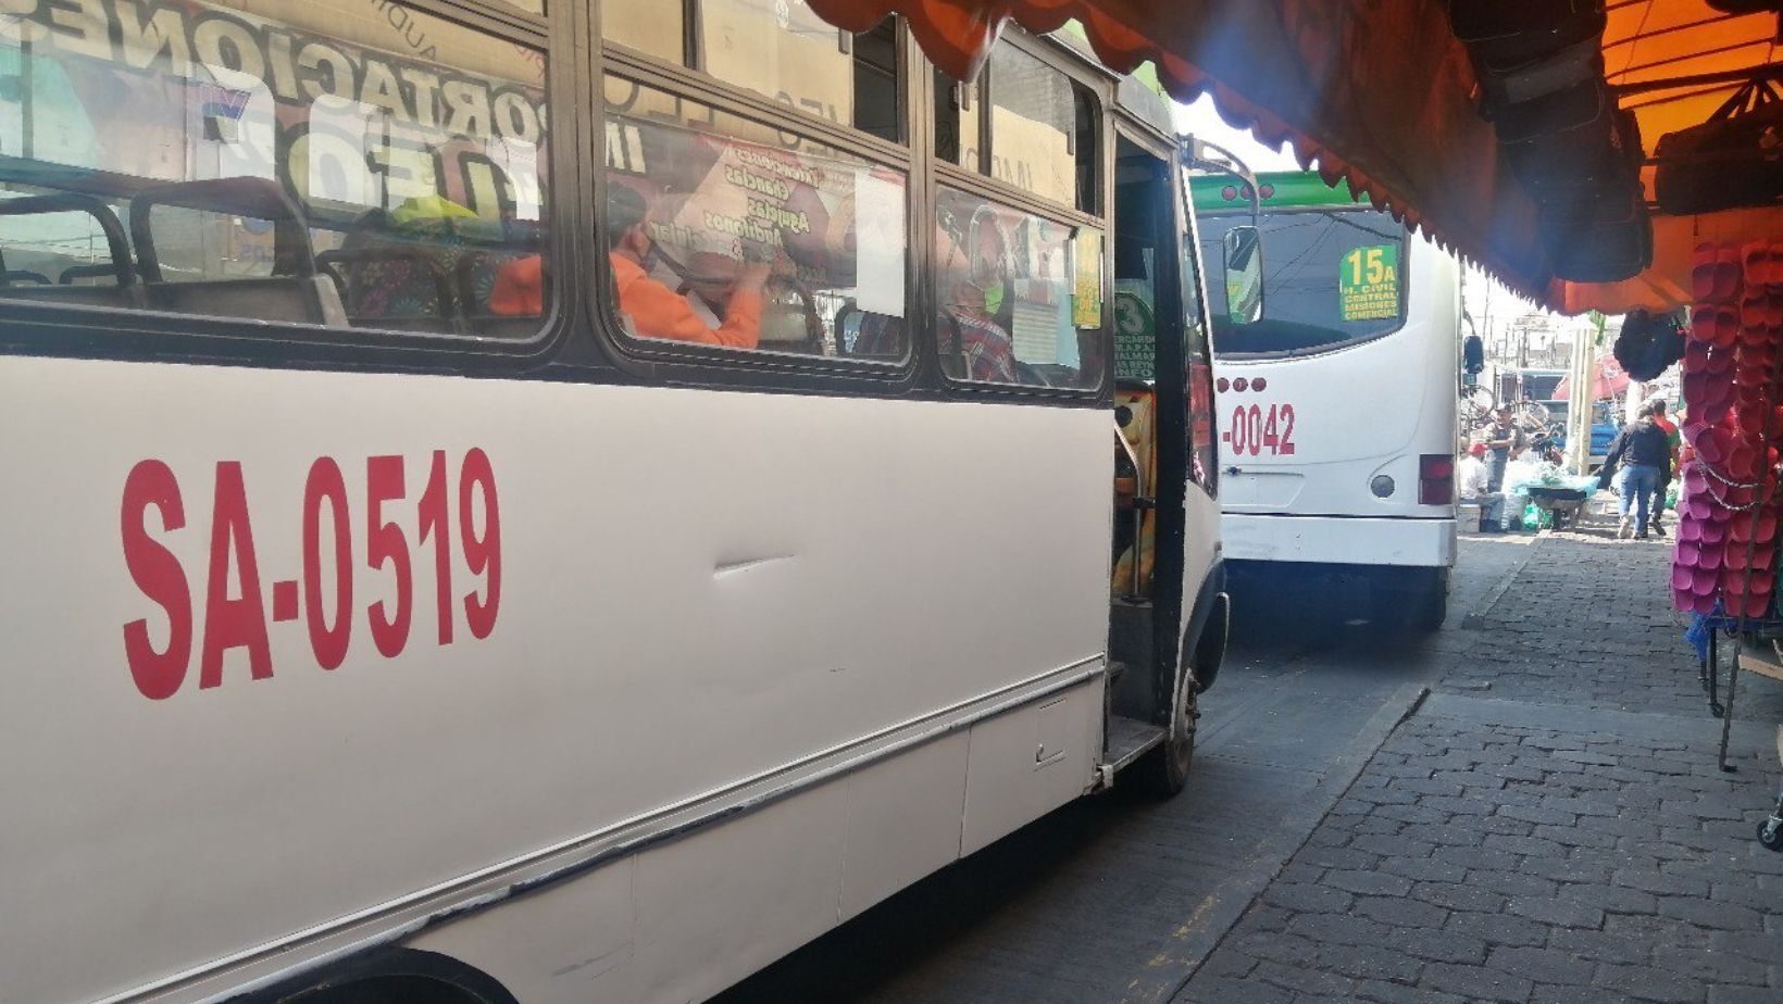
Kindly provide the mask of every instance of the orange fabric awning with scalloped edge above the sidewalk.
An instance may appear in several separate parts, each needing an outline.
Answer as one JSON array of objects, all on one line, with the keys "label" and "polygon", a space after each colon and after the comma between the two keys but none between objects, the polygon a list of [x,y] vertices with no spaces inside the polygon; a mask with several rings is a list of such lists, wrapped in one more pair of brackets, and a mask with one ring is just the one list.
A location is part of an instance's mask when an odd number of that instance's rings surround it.
[{"label": "orange fabric awning with scalloped edge above the sidewalk", "polygon": [[[1703,0],[1672,2],[1706,11]],[[1473,64],[1450,32],[1441,0],[1391,5],[1369,0],[809,4],[849,30],[867,30],[888,14],[902,14],[924,52],[957,78],[977,73],[1007,21],[1045,34],[1077,20],[1091,48],[1114,71],[1155,62],[1159,80],[1177,100],[1209,93],[1232,125],[1250,128],[1268,144],[1293,143],[1303,162],[1318,160],[1325,180],[1350,182],[1373,203],[1491,269],[1514,291],[1567,314],[1671,309],[1689,301],[1689,257],[1697,241],[1783,237],[1783,209],[1658,216],[1655,262],[1640,276],[1619,284],[1553,280],[1535,205],[1501,157],[1491,123],[1475,107]],[[1646,27],[1649,16],[1639,0],[1617,7],[1624,9],[1624,20],[1639,21],[1619,27],[1612,20],[1605,34],[1606,57],[1612,48],[1619,57],[1637,50],[1647,37],[1642,32],[1680,45],[1674,27]],[[1728,23],[1733,21],[1721,20],[1706,30],[1724,34]],[[1763,62],[1769,55],[1763,52],[1756,59]],[[1612,61],[1612,82],[1639,78],[1619,68],[1646,62],[1651,57]],[[1644,136],[1647,152],[1656,139]]]}]

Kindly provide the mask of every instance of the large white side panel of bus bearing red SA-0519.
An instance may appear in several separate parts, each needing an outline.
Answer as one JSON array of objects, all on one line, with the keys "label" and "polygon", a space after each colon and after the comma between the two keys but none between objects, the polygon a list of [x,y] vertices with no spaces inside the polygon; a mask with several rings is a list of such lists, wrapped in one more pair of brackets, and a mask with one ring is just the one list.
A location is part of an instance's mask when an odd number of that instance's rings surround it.
[{"label": "large white side panel of bus bearing red SA-0519", "polygon": [[1100,410],[9,357],[0,428],[21,1000],[649,829],[1105,646]]}]

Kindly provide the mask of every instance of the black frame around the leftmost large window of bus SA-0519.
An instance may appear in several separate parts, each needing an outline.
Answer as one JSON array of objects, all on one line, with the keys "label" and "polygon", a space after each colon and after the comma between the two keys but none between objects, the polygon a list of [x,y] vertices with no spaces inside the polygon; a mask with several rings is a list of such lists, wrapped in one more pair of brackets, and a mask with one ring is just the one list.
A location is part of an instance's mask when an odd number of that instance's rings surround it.
[{"label": "black frame around the leftmost large window of bus SA-0519", "polygon": [[[460,0],[403,0],[405,7],[481,32],[503,43],[533,48],[546,57],[546,107],[551,119],[547,152],[551,185],[544,219],[549,226],[547,260],[558,275],[574,275],[576,243],[569,239],[576,191],[576,150],[585,128],[583,109],[560,95],[576,93],[576,25],[572,4],[547,4],[530,14],[505,4]],[[349,41],[349,39],[348,39]],[[75,171],[84,177],[103,173]],[[569,182],[569,184],[563,184]],[[118,307],[7,301],[0,312],[0,353],[59,358],[112,358],[128,362],[230,364],[267,369],[428,371],[505,376],[560,355],[569,342],[569,319],[578,316],[579,289],[556,282],[538,328],[524,339],[392,328],[332,328],[294,321],[175,314]]]}]

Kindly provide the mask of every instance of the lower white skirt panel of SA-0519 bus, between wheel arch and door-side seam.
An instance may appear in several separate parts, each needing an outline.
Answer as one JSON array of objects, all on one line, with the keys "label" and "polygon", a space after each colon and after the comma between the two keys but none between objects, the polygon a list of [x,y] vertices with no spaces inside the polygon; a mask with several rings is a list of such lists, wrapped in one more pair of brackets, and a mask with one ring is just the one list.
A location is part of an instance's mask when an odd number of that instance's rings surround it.
[{"label": "lower white skirt panel of SA-0519 bus, between wheel arch and door-side seam", "polygon": [[528,1004],[704,999],[954,861],[966,745],[966,731],[941,737],[410,947],[458,958]]}]

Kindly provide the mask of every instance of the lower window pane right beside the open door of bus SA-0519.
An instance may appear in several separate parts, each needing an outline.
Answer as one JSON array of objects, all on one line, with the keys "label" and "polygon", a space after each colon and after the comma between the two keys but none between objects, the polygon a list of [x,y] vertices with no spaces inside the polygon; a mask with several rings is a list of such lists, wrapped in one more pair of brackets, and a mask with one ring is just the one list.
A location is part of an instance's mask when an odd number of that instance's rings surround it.
[{"label": "lower window pane right beside the open door of bus SA-0519", "polygon": [[1072,226],[947,187],[934,223],[936,339],[949,376],[1100,385],[1100,319],[1079,330],[1072,310]]}]

